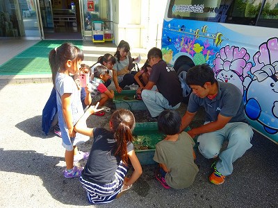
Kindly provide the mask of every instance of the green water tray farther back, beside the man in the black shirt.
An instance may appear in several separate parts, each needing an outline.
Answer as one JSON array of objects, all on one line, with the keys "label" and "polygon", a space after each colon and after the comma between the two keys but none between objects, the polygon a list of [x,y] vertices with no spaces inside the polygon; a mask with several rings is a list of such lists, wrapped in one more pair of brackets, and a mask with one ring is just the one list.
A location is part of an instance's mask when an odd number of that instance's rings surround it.
[{"label": "green water tray farther back, beside the man in the black shirt", "polygon": [[115,92],[113,103],[115,103],[116,109],[147,110],[147,106],[143,101],[134,98],[135,94],[136,90],[122,90],[121,93]]}]

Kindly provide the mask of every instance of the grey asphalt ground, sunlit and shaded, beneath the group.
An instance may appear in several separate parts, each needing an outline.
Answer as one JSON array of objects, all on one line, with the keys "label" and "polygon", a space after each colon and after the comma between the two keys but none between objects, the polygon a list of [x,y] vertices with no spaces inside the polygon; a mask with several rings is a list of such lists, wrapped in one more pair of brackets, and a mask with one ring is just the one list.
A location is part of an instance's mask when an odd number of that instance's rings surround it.
[{"label": "grey asphalt ground, sunlit and shaded, beneath the group", "polygon": [[[89,205],[79,180],[63,177],[60,138],[45,136],[41,130],[42,108],[51,87],[51,83],[0,85],[0,207]],[[179,112],[185,109],[183,104]],[[91,116],[88,123],[107,126],[109,116]],[[91,144],[80,149],[88,150]],[[92,207],[278,207],[278,146],[256,132],[252,144],[220,186],[208,182],[211,162],[197,153],[200,168],[192,187],[165,190],[154,177],[154,166],[143,166],[142,177],[130,191],[108,205]]]}]

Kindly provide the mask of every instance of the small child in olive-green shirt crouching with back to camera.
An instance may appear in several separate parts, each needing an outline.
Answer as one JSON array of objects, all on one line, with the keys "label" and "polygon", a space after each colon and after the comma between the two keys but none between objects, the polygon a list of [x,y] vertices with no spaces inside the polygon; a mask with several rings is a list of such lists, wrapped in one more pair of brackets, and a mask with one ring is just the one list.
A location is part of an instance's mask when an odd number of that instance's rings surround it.
[{"label": "small child in olive-green shirt crouching with back to camera", "polygon": [[156,179],[165,189],[183,189],[193,184],[199,168],[194,163],[195,142],[180,132],[181,116],[177,111],[164,110],[158,116],[158,130],[166,135],[156,144],[154,161],[159,163]]}]

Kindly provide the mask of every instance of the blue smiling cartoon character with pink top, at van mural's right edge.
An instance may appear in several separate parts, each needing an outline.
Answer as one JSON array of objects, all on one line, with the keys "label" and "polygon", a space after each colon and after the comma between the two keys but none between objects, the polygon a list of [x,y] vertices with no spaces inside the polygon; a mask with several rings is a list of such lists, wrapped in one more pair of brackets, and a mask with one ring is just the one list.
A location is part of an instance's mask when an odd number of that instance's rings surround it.
[{"label": "blue smiling cartoon character with pink top, at van mural's right edge", "polygon": [[263,125],[265,132],[278,132],[278,38],[259,46],[254,66],[243,82],[246,87],[245,114]]}]

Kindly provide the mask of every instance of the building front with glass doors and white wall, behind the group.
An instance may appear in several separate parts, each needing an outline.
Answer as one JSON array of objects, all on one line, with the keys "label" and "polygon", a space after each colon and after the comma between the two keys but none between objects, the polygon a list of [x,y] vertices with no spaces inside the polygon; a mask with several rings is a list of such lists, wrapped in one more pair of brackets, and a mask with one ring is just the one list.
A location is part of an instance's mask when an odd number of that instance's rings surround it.
[{"label": "building front with glass doors and white wall, behind the group", "polygon": [[133,48],[160,47],[166,3],[167,0],[2,0],[0,39],[115,44],[126,40]]}]

